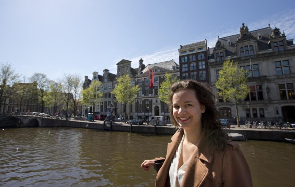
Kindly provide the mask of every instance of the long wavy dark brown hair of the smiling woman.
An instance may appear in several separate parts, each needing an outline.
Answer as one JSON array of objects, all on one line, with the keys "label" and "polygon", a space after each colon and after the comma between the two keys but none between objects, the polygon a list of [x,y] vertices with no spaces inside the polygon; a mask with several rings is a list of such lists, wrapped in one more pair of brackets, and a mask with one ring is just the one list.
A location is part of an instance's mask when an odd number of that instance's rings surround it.
[{"label": "long wavy dark brown hair of the smiling woman", "polygon": [[202,113],[201,120],[203,131],[207,135],[206,147],[211,154],[213,154],[216,150],[224,150],[226,148],[226,142],[229,138],[222,129],[222,124],[220,122],[221,114],[215,107],[215,96],[212,88],[208,84],[205,85],[196,80],[188,79],[174,83],[170,89],[169,106],[172,125],[176,128],[179,126],[173,116],[172,97],[174,93],[179,90],[193,89],[195,90],[195,96],[200,105],[204,105],[206,107],[205,112]]}]

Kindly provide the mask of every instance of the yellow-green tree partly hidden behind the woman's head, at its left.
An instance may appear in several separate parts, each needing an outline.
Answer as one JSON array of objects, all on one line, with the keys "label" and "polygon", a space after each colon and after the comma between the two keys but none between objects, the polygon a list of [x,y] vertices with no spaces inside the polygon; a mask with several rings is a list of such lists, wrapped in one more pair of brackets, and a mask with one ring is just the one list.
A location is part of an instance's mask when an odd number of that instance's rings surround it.
[{"label": "yellow-green tree partly hidden behind the woman's head, at its left", "polygon": [[158,92],[160,101],[165,102],[167,105],[169,104],[170,88],[172,84],[178,81],[179,79],[177,79],[177,77],[174,77],[172,73],[165,73],[164,81],[160,84]]}]

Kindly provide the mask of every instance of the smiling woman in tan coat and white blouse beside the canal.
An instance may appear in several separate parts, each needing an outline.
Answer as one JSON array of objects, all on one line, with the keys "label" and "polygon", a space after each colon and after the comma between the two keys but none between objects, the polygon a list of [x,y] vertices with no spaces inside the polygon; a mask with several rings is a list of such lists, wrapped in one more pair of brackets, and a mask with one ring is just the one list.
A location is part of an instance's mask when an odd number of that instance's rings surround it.
[{"label": "smiling woman in tan coat and white blouse beside the canal", "polygon": [[228,140],[219,121],[212,91],[194,80],[172,85],[171,122],[180,129],[168,144],[156,186],[252,186],[249,166],[237,143]]}]

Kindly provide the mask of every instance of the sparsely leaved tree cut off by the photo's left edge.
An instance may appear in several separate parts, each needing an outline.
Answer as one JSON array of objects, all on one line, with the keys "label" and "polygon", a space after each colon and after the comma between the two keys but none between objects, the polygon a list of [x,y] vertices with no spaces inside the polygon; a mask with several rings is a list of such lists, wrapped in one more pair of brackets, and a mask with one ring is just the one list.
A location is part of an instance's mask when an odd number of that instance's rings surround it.
[{"label": "sparsely leaved tree cut off by the photo's left edge", "polygon": [[9,63],[0,63],[0,109],[2,107],[2,100],[8,97],[9,85],[13,85],[18,80],[18,77],[18,74],[14,72],[14,69]]}]

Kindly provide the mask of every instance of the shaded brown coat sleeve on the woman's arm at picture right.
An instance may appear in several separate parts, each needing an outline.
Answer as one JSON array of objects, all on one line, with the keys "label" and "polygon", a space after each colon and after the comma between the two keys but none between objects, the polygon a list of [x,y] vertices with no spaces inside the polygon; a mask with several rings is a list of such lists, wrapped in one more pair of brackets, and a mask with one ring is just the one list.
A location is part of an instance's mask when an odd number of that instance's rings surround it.
[{"label": "shaded brown coat sleeve on the woman's arm at picture right", "polygon": [[224,187],[252,187],[248,163],[235,142],[228,142],[222,159],[222,182]]}]

